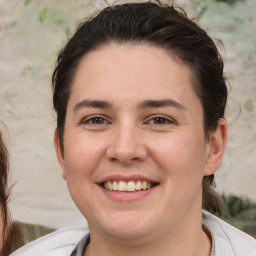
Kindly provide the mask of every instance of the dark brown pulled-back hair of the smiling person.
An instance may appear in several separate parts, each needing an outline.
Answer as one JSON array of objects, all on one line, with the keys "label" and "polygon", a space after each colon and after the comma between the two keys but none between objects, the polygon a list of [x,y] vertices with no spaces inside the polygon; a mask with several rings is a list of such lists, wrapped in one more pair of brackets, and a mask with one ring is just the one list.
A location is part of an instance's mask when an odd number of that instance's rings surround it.
[{"label": "dark brown pulled-back hair of the smiling person", "polygon": [[[225,112],[227,87],[223,60],[205,30],[187,18],[181,8],[147,2],[105,8],[81,23],[59,53],[52,86],[62,150],[66,108],[79,61],[88,52],[111,43],[160,47],[177,62],[188,66],[194,90],[203,106],[204,130],[208,139]],[[217,195],[211,188],[213,183],[214,175],[204,177],[203,207],[209,211],[216,208],[217,202]]]}]

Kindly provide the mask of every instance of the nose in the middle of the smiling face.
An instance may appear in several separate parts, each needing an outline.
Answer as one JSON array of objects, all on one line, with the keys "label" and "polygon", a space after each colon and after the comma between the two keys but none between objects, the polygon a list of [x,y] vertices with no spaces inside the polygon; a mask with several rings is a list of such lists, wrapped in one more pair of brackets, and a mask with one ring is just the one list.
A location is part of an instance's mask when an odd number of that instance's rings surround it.
[{"label": "nose in the middle of the smiling face", "polygon": [[108,145],[107,158],[126,165],[145,160],[147,150],[138,129],[128,125],[117,128]]}]

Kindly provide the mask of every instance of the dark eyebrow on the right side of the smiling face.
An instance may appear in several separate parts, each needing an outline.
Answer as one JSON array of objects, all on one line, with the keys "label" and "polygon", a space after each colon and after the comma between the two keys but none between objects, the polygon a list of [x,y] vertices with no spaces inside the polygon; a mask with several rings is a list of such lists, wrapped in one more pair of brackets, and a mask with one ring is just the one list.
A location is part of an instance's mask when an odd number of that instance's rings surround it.
[{"label": "dark eyebrow on the right side of the smiling face", "polygon": [[185,110],[185,106],[173,99],[163,99],[163,100],[145,100],[140,105],[139,108],[162,108],[162,107],[175,107],[177,109]]}]

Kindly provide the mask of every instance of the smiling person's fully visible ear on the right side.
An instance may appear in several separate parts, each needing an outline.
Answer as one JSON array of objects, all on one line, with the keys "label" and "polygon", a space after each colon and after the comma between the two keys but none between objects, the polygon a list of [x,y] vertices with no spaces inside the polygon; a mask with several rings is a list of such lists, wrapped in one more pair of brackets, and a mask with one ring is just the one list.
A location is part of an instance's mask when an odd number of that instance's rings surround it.
[{"label": "smiling person's fully visible ear on the right side", "polygon": [[211,132],[207,142],[207,155],[204,175],[214,174],[220,167],[227,141],[227,121],[220,118],[218,127]]}]

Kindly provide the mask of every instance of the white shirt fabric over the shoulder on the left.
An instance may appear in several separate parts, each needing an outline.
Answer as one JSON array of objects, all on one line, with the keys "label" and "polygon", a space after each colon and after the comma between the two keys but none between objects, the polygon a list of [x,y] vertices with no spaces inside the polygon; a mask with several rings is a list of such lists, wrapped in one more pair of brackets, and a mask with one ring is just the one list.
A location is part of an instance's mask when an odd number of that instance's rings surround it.
[{"label": "white shirt fabric over the shoulder on the left", "polygon": [[10,256],[69,256],[87,233],[88,229],[81,227],[59,229],[21,247]]}]

